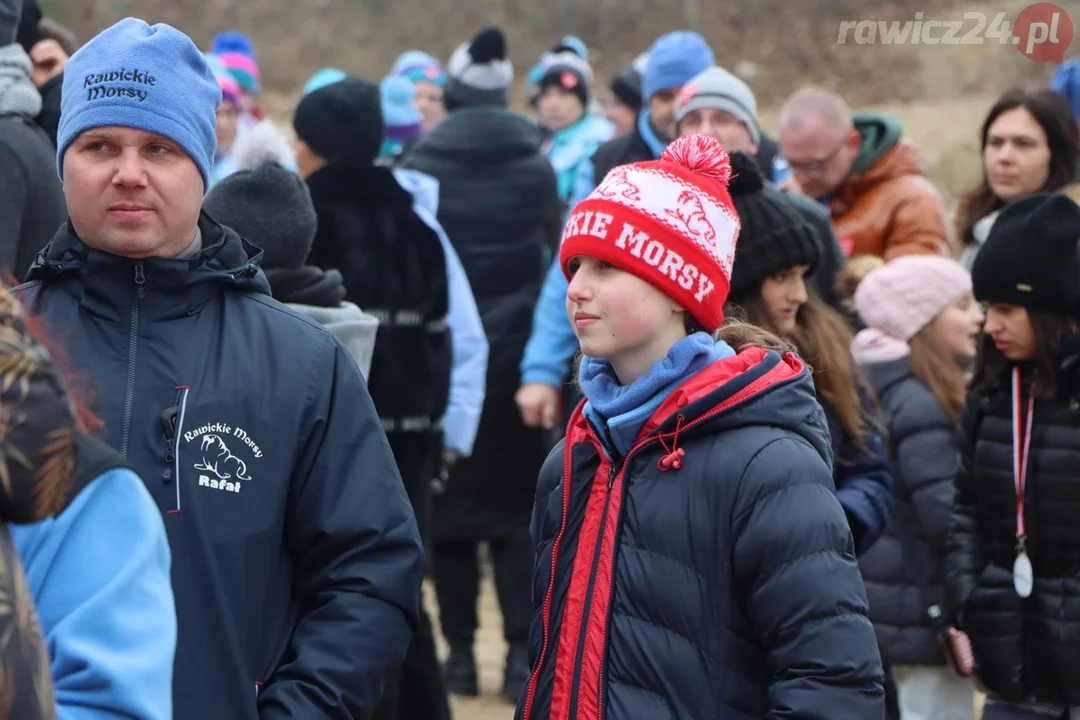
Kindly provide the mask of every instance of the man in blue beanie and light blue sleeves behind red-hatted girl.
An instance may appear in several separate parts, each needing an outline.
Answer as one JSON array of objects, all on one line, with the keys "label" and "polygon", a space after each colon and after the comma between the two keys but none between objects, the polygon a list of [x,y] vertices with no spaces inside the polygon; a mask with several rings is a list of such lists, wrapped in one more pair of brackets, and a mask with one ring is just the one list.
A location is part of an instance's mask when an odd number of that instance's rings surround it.
[{"label": "man in blue beanie and light blue sleeves behind red-hatted girl", "polygon": [[[591,160],[581,163],[569,205],[571,210],[612,168],[660,157],[675,139],[679,91],[714,64],[712,49],[697,32],[669,32],[652,43],[642,77],[645,107],[637,114],[637,125],[599,146]],[[532,313],[532,334],[521,364],[522,386],[516,399],[522,419],[530,427],[554,426],[559,389],[578,350],[573,328],[566,317],[566,276],[556,258]],[[567,403],[566,407],[573,405]]]}]

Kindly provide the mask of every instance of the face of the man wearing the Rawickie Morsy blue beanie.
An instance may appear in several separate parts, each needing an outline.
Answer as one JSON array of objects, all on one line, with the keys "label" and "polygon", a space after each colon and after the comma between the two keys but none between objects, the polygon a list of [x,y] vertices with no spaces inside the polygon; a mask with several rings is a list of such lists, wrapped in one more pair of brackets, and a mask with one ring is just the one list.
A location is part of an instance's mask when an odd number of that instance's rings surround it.
[{"label": "face of the man wearing the Rawickie Morsy blue beanie", "polygon": [[133,127],[95,127],[64,153],[64,196],[79,237],[112,255],[175,257],[194,240],[199,167],[173,140]]}]

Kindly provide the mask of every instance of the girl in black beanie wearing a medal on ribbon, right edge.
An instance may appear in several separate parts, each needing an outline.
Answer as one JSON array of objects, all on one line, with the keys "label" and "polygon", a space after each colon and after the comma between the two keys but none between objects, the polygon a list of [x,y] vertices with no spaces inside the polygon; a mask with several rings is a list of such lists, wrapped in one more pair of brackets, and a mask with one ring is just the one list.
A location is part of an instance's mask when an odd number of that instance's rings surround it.
[{"label": "girl in black beanie wearing a medal on ribbon, right edge", "polygon": [[1018,201],[972,271],[986,308],[946,541],[985,720],[1080,717],[1080,207]]}]

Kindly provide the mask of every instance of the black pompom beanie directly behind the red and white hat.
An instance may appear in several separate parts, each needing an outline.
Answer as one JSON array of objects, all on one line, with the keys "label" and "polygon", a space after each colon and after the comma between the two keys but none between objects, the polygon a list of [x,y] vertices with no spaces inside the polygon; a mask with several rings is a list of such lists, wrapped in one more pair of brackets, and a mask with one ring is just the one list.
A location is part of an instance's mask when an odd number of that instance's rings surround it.
[{"label": "black pompom beanie directly behind the red and white hat", "polygon": [[730,298],[734,302],[754,296],[766,277],[795,266],[821,262],[821,243],[813,226],[798,212],[783,190],[766,186],[757,162],[732,152],[728,192],[742,228],[735,243]]}]

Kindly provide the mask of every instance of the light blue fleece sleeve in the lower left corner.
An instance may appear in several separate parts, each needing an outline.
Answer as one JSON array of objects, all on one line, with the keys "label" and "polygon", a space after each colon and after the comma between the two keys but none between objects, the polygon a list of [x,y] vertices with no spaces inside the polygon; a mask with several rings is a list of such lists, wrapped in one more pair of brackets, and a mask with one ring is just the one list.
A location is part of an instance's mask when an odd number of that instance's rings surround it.
[{"label": "light blue fleece sleeve in the lower left corner", "polygon": [[52,658],[58,720],[170,720],[171,556],[138,476],[110,470],[57,517],[10,528]]}]

